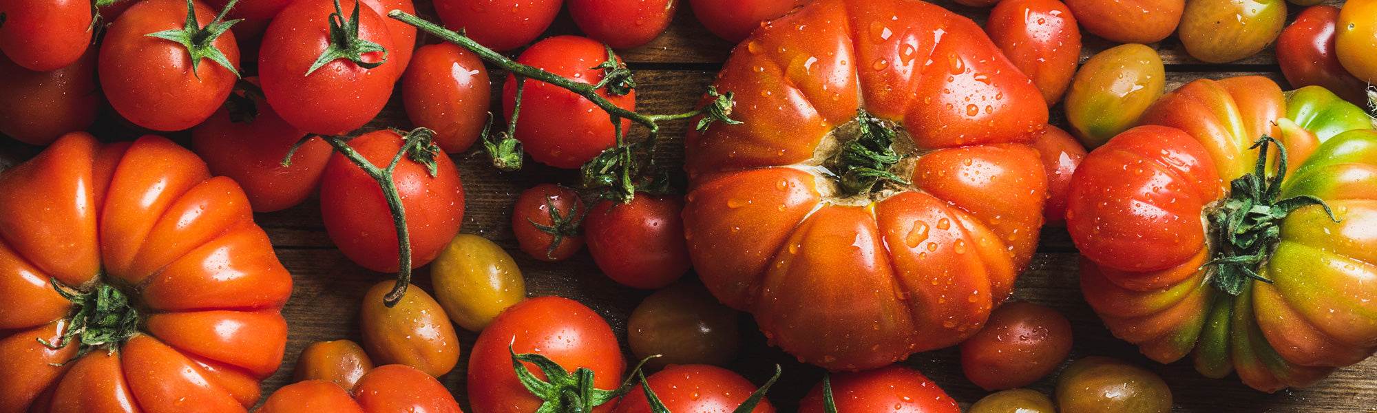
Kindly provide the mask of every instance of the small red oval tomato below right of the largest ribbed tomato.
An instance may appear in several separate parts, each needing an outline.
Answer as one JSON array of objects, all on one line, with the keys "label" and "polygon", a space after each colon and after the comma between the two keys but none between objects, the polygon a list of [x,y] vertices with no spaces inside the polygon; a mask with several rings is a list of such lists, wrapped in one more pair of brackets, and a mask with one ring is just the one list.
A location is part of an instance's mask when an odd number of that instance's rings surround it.
[{"label": "small red oval tomato below right of the largest ribbed tomato", "polygon": [[961,343],[961,370],[980,388],[1015,388],[1052,373],[1070,352],[1066,317],[1033,303],[1008,303]]}]

